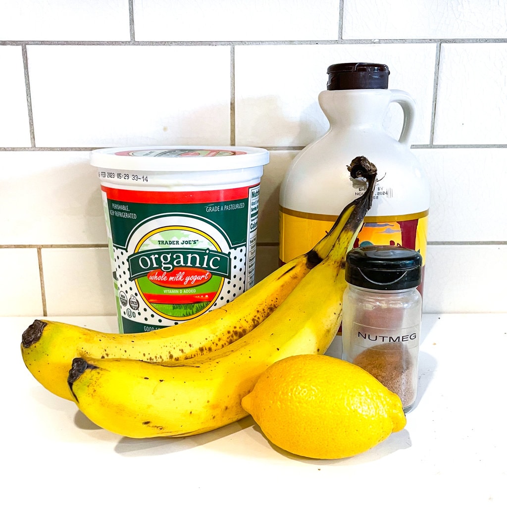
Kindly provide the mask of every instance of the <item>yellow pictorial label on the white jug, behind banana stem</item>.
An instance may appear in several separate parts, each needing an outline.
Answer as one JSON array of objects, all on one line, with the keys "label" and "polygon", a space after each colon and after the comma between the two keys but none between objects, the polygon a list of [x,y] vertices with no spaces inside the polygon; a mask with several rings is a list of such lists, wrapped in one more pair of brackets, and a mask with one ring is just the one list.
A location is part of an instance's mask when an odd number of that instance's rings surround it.
[{"label": "yellow pictorial label on the white jug, behind banana stem", "polygon": [[[304,213],[280,207],[280,262],[307,252],[333,227],[336,216]],[[391,216],[367,216],[354,248],[367,245],[398,245],[418,251],[426,261],[428,210]]]}]

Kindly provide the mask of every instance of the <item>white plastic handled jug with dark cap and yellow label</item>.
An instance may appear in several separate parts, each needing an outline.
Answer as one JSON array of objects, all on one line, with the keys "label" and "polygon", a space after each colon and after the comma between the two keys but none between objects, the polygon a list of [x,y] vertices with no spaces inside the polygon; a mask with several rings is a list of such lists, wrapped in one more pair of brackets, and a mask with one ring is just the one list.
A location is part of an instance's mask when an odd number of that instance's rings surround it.
[{"label": "white plastic handled jug with dark cap and yellow label", "polygon": [[[283,264],[308,251],[329,231],[342,209],[366,188],[353,182],[350,161],[365,156],[378,170],[373,204],[354,247],[398,245],[426,258],[429,184],[410,151],[415,102],[387,89],[389,69],[376,63],[328,68],[328,89],[318,96],[329,130],[294,159],[280,188],[279,258]],[[387,109],[403,110],[398,139],[382,126]],[[422,294],[423,281],[419,286]]]}]

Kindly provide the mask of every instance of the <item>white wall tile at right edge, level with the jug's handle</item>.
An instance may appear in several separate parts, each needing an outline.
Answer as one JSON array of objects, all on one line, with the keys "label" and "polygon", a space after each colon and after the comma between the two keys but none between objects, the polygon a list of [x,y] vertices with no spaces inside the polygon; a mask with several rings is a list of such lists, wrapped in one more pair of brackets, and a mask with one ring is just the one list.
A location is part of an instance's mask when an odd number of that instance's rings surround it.
[{"label": "white wall tile at right edge, level with the jug's handle", "polygon": [[442,44],[436,144],[507,143],[507,43]]}]

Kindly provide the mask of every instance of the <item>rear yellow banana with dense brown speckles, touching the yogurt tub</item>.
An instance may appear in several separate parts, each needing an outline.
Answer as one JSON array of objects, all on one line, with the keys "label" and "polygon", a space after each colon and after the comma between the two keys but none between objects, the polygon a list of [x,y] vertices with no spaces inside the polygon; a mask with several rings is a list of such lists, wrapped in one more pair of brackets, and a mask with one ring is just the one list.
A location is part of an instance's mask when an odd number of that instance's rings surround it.
[{"label": "rear yellow banana with dense brown speckles, touching the yogurt tub", "polygon": [[72,400],[67,376],[78,356],[178,361],[206,355],[249,333],[329,253],[352,211],[351,202],[309,252],[286,263],[226,305],[200,317],[148,333],[101,333],[51,320],[35,320],[23,333],[21,354],[31,374],[52,393]]}]

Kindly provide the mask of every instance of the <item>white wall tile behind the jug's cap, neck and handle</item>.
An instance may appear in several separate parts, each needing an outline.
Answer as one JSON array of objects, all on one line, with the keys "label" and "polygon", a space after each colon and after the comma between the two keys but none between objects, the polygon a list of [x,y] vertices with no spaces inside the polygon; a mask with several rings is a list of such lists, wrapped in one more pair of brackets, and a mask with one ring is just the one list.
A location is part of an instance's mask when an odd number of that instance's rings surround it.
[{"label": "white wall tile behind the jug's cap, neck and handle", "polygon": [[[430,138],[435,44],[239,46],[235,49],[236,142],[306,146],[329,127],[317,99],[333,63],[375,61],[389,66],[389,88],[416,100],[411,142]],[[399,135],[403,116],[393,105],[386,128]]]}]

